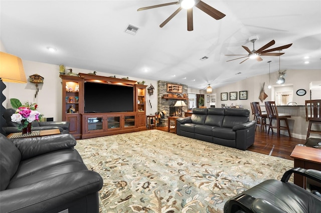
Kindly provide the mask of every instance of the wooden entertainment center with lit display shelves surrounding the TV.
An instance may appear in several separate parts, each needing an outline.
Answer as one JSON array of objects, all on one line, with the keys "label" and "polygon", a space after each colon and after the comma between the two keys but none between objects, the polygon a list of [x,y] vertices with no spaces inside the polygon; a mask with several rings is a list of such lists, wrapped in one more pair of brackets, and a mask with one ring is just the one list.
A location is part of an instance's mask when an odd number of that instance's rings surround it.
[{"label": "wooden entertainment center with lit display shelves surrounding the TV", "polygon": [[[69,131],[75,138],[127,133],[146,128],[146,85],[123,78],[85,73],[78,75],[60,75],[62,78],[62,120],[70,122]],[[85,82],[133,87],[133,111],[85,113]]]}]

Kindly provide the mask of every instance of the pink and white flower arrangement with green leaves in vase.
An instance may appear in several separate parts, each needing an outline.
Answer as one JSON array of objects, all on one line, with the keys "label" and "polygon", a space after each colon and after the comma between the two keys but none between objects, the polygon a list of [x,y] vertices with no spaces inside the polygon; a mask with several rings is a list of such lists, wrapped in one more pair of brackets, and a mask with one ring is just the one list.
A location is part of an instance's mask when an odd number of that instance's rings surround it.
[{"label": "pink and white flower arrangement with green leaves in vase", "polygon": [[[38,104],[36,103],[29,103],[26,102],[25,105],[22,105],[21,102],[18,99],[12,98],[14,99],[16,102],[14,102],[15,104],[12,105],[14,106],[18,106],[20,105],[16,112],[11,115],[11,120],[13,122],[20,122],[21,125],[19,125],[19,127],[21,128],[25,128],[27,127],[28,123],[31,123],[32,121],[39,121],[39,119],[41,118],[41,114],[39,111],[37,111],[37,107]],[[17,103],[17,100],[19,101]]]}]

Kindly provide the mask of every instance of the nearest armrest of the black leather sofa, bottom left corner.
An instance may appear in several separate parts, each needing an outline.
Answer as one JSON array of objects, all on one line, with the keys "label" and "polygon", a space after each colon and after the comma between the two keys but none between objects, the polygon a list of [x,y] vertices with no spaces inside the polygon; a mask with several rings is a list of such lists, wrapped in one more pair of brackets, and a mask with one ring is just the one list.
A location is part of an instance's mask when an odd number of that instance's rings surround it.
[{"label": "nearest armrest of the black leather sofa, bottom left corner", "polygon": [[49,212],[95,193],[103,179],[95,171],[81,170],[0,191],[1,212]]}]

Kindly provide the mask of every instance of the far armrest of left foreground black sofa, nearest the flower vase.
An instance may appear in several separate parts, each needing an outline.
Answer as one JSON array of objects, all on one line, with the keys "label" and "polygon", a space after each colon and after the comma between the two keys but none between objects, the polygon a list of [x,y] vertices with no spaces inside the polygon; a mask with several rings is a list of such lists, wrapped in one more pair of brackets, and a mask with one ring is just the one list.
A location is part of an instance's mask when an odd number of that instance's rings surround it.
[{"label": "far armrest of left foreground black sofa, nearest the flower vase", "polygon": [[59,149],[72,148],[76,145],[76,139],[71,134],[14,138],[11,140],[18,147],[22,160]]}]

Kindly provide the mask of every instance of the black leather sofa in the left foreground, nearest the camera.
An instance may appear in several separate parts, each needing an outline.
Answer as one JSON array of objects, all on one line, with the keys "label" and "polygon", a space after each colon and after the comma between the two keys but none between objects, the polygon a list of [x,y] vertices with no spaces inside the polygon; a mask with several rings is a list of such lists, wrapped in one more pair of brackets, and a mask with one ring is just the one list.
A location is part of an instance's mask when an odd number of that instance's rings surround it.
[{"label": "black leather sofa in the left foreground, nearest the camera", "polygon": [[0,140],[0,212],[99,212],[102,177],[71,134]]}]

